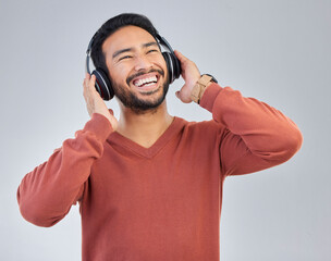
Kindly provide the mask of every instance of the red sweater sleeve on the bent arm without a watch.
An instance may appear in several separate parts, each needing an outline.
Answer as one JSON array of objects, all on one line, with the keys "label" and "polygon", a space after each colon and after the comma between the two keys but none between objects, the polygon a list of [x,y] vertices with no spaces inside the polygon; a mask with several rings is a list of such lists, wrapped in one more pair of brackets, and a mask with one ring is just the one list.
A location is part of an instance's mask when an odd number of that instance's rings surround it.
[{"label": "red sweater sleeve on the bent arm without a watch", "polygon": [[24,219],[39,226],[62,220],[82,197],[91,165],[102,156],[111,132],[109,121],[94,113],[74,139],[66,139],[47,162],[26,174],[16,194]]}]

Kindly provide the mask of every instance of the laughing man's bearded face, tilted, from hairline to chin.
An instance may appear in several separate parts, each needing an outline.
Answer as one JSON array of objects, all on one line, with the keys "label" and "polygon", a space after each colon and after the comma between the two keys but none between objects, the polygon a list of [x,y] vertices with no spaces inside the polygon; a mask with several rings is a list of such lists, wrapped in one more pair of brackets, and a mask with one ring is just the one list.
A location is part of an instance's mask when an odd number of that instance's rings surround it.
[{"label": "laughing man's bearded face, tilted, from hairline to chin", "polygon": [[102,45],[115,96],[136,113],[155,110],[164,100],[167,64],[155,38],[137,26],[125,26]]}]

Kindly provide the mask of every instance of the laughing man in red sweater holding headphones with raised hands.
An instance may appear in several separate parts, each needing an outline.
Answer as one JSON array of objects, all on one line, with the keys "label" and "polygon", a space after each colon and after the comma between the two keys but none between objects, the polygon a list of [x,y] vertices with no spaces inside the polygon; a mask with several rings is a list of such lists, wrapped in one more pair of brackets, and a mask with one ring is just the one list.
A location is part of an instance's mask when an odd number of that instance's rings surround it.
[{"label": "laughing man in red sweater holding headphones with raised hands", "polygon": [[91,58],[119,100],[119,121],[86,75],[90,120],[22,181],[23,216],[51,226],[79,202],[83,260],[217,261],[222,184],[228,175],[289,160],[301,147],[296,125],[278,110],[201,76],[175,51],[183,102],[212,121],[174,117],[164,100],[169,70],[156,30],[121,14],[97,33]]}]

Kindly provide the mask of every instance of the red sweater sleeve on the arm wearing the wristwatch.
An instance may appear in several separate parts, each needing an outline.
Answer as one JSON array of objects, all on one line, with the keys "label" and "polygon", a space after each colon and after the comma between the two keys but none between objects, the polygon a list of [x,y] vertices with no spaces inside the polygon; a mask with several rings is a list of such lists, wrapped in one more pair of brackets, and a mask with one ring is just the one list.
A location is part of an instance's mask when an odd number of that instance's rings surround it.
[{"label": "red sweater sleeve on the arm wearing the wristwatch", "polygon": [[302,146],[303,136],[294,122],[230,87],[211,84],[200,105],[224,128],[220,142],[224,175],[247,174],[281,164]]}]

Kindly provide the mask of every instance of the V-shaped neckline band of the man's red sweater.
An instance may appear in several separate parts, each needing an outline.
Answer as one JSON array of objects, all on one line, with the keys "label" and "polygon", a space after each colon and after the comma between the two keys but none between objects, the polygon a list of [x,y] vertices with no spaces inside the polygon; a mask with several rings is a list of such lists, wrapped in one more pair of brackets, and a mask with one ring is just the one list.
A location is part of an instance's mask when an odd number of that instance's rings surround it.
[{"label": "V-shaped neckline band of the man's red sweater", "polygon": [[172,123],[164,130],[164,133],[148,148],[138,145],[130,138],[126,138],[123,135],[119,134],[118,132],[112,133],[108,137],[108,141],[122,146],[142,157],[150,159],[155,157],[169,142],[173,135],[177,134],[179,130],[182,129],[184,122],[185,121],[183,119],[174,116]]}]

